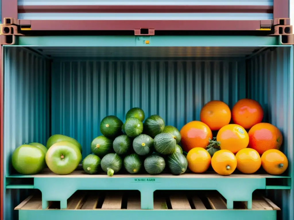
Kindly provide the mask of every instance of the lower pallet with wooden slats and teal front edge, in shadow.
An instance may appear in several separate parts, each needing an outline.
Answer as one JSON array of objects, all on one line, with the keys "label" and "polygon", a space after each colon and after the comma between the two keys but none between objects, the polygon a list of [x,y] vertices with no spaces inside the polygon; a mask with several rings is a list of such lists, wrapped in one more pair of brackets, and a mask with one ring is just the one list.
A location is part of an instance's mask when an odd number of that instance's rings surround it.
[{"label": "lower pallet with wooden slats and teal front edge, in shadow", "polygon": [[29,196],[15,209],[19,210],[19,220],[29,219],[267,219],[275,220],[280,210],[269,199],[254,194],[252,210],[246,202],[234,204],[228,210],[225,199],[217,191],[156,191],[154,210],[141,210],[140,193],[133,191],[77,191],[62,210],[58,202],[50,202],[42,209],[40,194]]}]

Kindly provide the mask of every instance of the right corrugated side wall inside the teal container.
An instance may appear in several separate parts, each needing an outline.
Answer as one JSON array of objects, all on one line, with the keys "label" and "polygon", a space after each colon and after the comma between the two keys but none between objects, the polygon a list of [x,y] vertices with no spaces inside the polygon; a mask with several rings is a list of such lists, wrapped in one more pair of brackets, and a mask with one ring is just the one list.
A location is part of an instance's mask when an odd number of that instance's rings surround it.
[{"label": "right corrugated side wall inside the teal container", "polygon": [[[275,48],[253,57],[247,62],[247,73],[248,97],[263,106],[263,121],[282,131],[282,150],[290,160],[289,176],[293,177],[293,48]],[[284,220],[293,219],[293,188],[292,182],[292,192],[268,190]]]}]

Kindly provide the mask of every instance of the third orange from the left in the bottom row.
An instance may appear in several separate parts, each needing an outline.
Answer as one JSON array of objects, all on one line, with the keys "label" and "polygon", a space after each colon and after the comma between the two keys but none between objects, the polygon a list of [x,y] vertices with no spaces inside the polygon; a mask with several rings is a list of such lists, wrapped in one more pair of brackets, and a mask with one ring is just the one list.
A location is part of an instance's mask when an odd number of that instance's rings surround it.
[{"label": "third orange from the left in the bottom row", "polygon": [[236,153],[237,169],[240,172],[251,174],[255,173],[261,166],[259,153],[251,148],[244,148]]}]

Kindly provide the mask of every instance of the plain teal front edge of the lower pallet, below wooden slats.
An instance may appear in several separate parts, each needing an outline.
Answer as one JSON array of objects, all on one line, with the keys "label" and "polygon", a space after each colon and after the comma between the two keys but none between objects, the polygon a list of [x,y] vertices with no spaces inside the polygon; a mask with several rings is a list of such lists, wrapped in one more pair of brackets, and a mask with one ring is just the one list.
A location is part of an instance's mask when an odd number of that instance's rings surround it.
[{"label": "plain teal front edge of the lower pallet, below wooden slats", "polygon": [[64,219],[218,219],[218,220],[276,220],[276,211],[270,210],[19,210],[19,220]]}]

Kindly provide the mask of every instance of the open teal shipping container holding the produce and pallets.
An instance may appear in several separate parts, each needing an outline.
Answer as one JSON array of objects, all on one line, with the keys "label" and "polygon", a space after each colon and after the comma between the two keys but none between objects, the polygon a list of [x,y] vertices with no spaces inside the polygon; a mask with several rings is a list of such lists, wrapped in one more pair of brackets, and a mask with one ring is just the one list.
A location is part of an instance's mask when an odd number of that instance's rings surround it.
[{"label": "open teal shipping container holding the produce and pallets", "polygon": [[[294,218],[293,45],[282,45],[280,36],[18,36],[14,45],[2,46],[1,58],[4,220]],[[101,135],[101,119],[116,115],[124,121],[132,107],[141,107],[146,116],[158,114],[166,125],[181,129],[200,120],[208,101],[222,100],[232,108],[242,98],[258,101],[264,109],[263,121],[283,133],[282,151],[289,160],[283,175],[107,177],[79,170],[71,175],[49,171],[20,175],[11,165],[11,154],[19,145],[46,145],[52,134],[75,138],[85,158],[93,138]],[[80,190],[106,190],[104,203],[98,202],[98,195],[83,199],[89,191]],[[133,196],[125,201],[126,207],[143,210],[123,208],[124,197],[111,196],[107,190]],[[169,198],[169,209],[183,210],[146,210],[161,209],[162,200],[153,196],[158,190]],[[180,196],[167,190],[180,190]],[[199,198],[192,196],[197,190],[215,191],[198,203]],[[181,197],[183,192],[189,192],[193,205]],[[252,199],[253,192],[264,197]],[[204,207],[204,200],[210,208]],[[230,210],[236,201],[246,202],[247,209]]]}]

